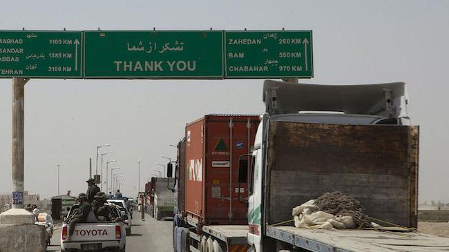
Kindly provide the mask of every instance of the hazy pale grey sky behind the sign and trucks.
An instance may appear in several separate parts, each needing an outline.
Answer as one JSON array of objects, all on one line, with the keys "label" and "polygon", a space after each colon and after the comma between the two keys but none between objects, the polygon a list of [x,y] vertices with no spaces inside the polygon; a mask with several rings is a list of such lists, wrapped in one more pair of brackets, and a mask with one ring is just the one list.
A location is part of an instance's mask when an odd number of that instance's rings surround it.
[{"label": "hazy pale grey sky behind the sign and trucks", "polygon": [[[420,200],[449,202],[449,1],[3,1],[0,29],[313,30],[314,78],[303,83],[405,81],[421,126]],[[0,191],[11,188],[12,81],[0,79]],[[209,113],[262,113],[262,79],[62,80],[26,84],[25,188],[42,197],[86,191],[88,158],[110,143],[122,190],[175,158],[184,125]],[[115,166],[113,166],[115,167]],[[95,173],[95,171],[94,171]],[[142,186],[141,186],[142,187]]]}]

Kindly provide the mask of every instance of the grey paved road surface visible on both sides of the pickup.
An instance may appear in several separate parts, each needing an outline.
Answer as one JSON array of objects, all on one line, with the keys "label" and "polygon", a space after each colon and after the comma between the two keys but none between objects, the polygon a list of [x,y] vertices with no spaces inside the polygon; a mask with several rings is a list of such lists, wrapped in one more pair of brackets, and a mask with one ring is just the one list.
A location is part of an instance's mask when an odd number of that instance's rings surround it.
[{"label": "grey paved road surface visible on both sides of the pickup", "polygon": [[[149,215],[145,216],[145,221],[140,220],[140,213],[134,212],[131,235],[126,237],[126,251],[173,251],[172,230],[173,222],[157,221]],[[47,251],[61,251],[59,246],[60,226],[57,226],[53,234],[51,245]]]}]

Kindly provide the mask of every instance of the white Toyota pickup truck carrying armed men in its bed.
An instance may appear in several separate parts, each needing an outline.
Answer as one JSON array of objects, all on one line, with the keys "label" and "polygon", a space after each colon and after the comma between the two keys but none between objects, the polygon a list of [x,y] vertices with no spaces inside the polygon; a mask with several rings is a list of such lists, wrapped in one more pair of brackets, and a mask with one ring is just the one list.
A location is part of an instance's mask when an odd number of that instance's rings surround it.
[{"label": "white Toyota pickup truck carrying armed men in its bed", "polygon": [[[79,208],[74,204],[67,217],[73,215]],[[119,209],[113,207],[115,217],[120,217]],[[90,211],[85,223],[77,223],[75,231],[68,238],[68,224],[63,223],[61,227],[61,251],[99,251],[102,249],[113,249],[114,251],[125,251],[126,233],[124,222],[99,222],[93,211]]]}]

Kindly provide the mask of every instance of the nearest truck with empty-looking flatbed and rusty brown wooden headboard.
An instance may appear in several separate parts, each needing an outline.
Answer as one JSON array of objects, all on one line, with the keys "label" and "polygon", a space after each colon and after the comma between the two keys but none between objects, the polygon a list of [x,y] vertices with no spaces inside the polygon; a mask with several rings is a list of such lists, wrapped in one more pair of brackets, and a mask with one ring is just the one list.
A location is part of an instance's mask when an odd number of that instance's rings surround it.
[{"label": "nearest truck with empty-looking flatbed and rusty brown wooden headboard", "polygon": [[[413,231],[419,126],[410,125],[404,83],[267,80],[264,101],[252,165],[239,169],[252,181],[249,251],[449,251],[448,238]],[[278,226],[292,219],[294,207],[335,191],[359,200],[382,229]]]}]

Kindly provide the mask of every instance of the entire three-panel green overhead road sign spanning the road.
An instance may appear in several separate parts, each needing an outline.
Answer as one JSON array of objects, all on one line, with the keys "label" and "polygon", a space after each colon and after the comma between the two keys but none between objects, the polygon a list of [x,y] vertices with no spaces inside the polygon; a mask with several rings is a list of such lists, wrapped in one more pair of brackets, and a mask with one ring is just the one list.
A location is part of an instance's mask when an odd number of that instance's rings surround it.
[{"label": "entire three-panel green overhead road sign spanning the road", "polygon": [[310,78],[312,30],[0,31],[0,78]]}]

